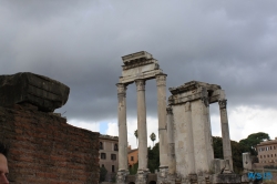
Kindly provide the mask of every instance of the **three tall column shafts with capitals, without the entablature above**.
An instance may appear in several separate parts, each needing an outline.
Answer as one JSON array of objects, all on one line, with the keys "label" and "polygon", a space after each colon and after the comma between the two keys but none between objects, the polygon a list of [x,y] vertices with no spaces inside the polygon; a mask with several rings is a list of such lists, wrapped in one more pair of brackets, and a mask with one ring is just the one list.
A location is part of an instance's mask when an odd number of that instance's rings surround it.
[{"label": "three tall column shafts with capitals, without the entablature above", "polygon": [[[166,74],[157,74],[157,112],[158,112],[158,137],[160,137],[160,168],[167,168],[168,141],[166,133]],[[138,134],[138,170],[147,168],[147,125],[145,103],[145,80],[134,81],[137,93],[137,134]],[[119,171],[127,171],[127,126],[126,126],[126,84],[117,83],[119,98]]]}]

